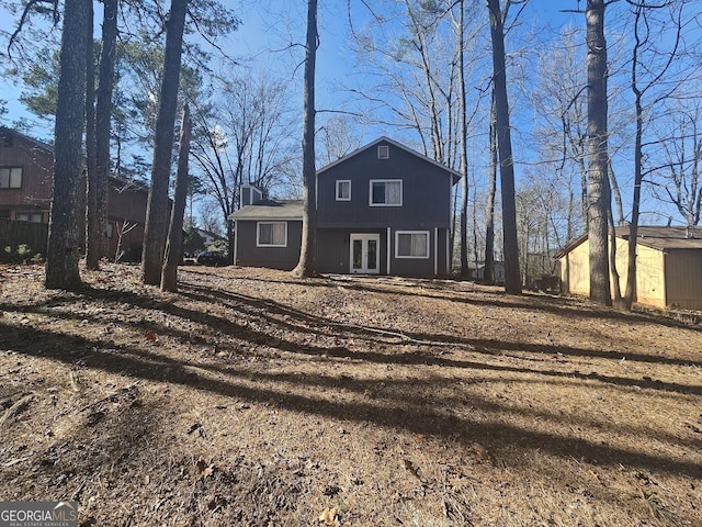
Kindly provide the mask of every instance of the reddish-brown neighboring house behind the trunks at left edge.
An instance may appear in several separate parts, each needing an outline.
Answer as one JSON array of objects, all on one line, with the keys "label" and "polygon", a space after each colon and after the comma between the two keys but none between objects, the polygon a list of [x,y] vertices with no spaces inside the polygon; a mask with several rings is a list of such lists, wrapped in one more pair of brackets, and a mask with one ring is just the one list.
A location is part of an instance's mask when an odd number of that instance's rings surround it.
[{"label": "reddish-brown neighboring house behind the trunks at left edge", "polygon": [[[48,223],[53,167],[50,145],[0,126],[0,218]],[[111,256],[117,245],[121,251],[138,256],[148,190],[138,181],[110,178],[106,234]]]}]

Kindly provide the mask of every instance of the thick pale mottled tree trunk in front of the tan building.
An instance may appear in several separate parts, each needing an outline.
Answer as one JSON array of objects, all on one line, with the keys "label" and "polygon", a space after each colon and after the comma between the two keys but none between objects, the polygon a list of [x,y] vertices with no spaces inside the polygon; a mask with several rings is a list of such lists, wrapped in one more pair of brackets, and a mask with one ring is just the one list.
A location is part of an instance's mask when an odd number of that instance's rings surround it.
[{"label": "thick pale mottled tree trunk in front of the tan building", "polygon": [[612,305],[607,232],[610,192],[607,139],[607,42],[604,0],[588,0],[588,238],[590,242],[590,300]]}]

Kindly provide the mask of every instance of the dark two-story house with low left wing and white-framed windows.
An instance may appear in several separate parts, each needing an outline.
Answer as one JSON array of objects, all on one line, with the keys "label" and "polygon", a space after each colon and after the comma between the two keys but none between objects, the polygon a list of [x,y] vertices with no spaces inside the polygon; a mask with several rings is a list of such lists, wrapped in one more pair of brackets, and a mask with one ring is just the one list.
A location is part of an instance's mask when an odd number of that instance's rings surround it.
[{"label": "dark two-story house with low left wing and white-framed windows", "polygon": [[[381,137],[317,171],[320,272],[448,276],[452,189],[460,173]],[[235,264],[293,269],[303,204],[242,189]]]}]

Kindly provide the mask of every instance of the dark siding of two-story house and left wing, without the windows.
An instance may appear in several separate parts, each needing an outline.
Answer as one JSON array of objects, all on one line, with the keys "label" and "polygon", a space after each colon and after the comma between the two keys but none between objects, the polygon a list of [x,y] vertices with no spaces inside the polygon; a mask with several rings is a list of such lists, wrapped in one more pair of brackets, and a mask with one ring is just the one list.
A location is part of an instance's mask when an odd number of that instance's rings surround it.
[{"label": "dark siding of two-story house and left wing, without the windows", "polygon": [[[387,158],[378,158],[378,147],[387,148]],[[380,274],[435,277],[450,273],[449,228],[451,227],[452,189],[457,173],[414,153],[397,143],[381,138],[339,159],[317,172],[317,262],[320,272],[351,272],[351,236],[378,236]],[[350,183],[350,192],[338,198],[338,181]],[[401,181],[401,203],[372,204],[372,181]],[[388,197],[396,198],[390,189]],[[258,210],[256,208],[259,206]],[[284,249],[256,247],[256,222],[270,217],[273,210],[251,205],[234,213],[237,222],[237,264],[242,266],[292,269],[297,262],[299,245],[288,238]],[[280,213],[280,211],[279,211]],[[286,218],[297,217],[293,215]],[[299,223],[302,225],[302,222]],[[422,258],[397,258],[396,233],[427,233],[429,255]],[[366,246],[366,245],[364,245]],[[370,272],[371,270],[369,270]]]}]

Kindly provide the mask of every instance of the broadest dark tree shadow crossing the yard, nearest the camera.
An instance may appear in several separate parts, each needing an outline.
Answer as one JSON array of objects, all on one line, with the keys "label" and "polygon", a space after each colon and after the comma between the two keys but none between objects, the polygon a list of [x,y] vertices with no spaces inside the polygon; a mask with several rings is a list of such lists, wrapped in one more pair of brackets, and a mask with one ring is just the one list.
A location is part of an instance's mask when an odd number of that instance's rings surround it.
[{"label": "broadest dark tree shadow crossing the yard, nearest the camera", "polygon": [[[405,429],[424,436],[443,437],[466,445],[489,442],[492,448],[522,451],[539,449],[550,455],[584,457],[597,464],[619,464],[641,469],[655,469],[691,478],[702,476],[702,466],[665,456],[634,452],[626,449],[593,444],[580,438],[539,433],[502,422],[477,422],[442,413],[431,406],[408,408],[403,402],[363,401],[340,402],[324,397],[285,393],[264,386],[251,386],[250,381],[236,382],[226,375],[201,374],[205,370],[191,360],[166,359],[145,350],[123,348],[115,351],[101,349],[103,343],[57,334],[32,327],[18,327],[0,321],[0,349],[12,349],[23,355],[42,357],[73,365],[80,356],[84,368],[137,379],[191,386],[238,400],[273,404],[282,410],[318,415],[340,421],[366,422],[376,426]],[[362,359],[363,354],[359,354]],[[387,356],[384,357],[387,360]],[[380,357],[376,357],[376,360]],[[205,365],[203,365],[205,366]],[[485,367],[485,365],[482,365]]]}]

